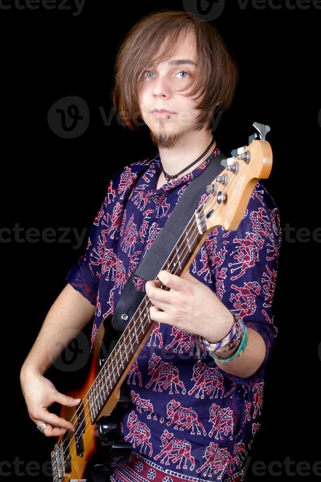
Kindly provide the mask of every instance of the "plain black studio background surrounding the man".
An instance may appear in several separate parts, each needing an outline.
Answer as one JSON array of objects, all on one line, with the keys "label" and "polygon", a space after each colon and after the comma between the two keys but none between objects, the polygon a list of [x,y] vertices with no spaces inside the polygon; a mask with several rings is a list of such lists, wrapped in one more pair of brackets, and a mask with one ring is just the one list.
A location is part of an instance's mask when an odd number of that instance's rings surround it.
[{"label": "plain black studio background surrounding the man", "polygon": [[[251,473],[255,461],[283,465],[287,457],[294,462],[294,475],[300,475],[298,464],[307,461],[310,470],[302,472],[310,472],[307,478],[315,479],[312,466],[321,460],[320,241],[312,235],[320,226],[321,10],[312,1],[307,9],[295,0],[288,4],[274,0],[280,9],[268,2],[260,9],[250,1],[245,8],[237,1],[226,3],[212,23],[236,56],[241,80],[232,107],[215,130],[217,144],[230,153],[247,144],[254,121],[271,127],[267,140],[273,168],[264,184],[279,208],[283,227],[274,296],[279,335],[266,377],[264,419],[245,480],[258,479]],[[26,473],[28,461],[42,465],[50,459],[55,441],[40,434],[28,417],[20,367],[66,284],[68,270],[85,250],[111,176],[122,166],[157,152],[146,128],[134,133],[115,117],[110,125],[104,124],[100,108],[108,117],[117,48],[145,13],[184,10],[184,4],[153,1],[148,7],[141,2],[86,0],[79,15],[73,15],[76,9],[70,1],[65,6],[71,9],[52,10],[5,4],[11,8],[0,8],[1,225],[11,234],[6,231],[0,243],[1,460],[10,464],[4,472],[19,477],[15,457],[23,462],[21,473]],[[87,103],[90,120],[82,135],[66,139],[50,128],[47,116],[57,100],[73,95]],[[20,241],[13,233],[16,223],[22,228]],[[294,228],[290,237],[287,225]],[[41,239],[48,227],[56,231],[54,242]],[[38,242],[27,241],[29,228],[39,230]],[[61,228],[86,230],[82,245],[75,249],[72,232],[66,237],[69,242],[59,241]],[[309,230],[302,239],[301,228]],[[66,393],[82,380],[83,373],[63,373],[53,367],[46,376]],[[284,465],[274,470],[281,470],[282,480],[290,477]],[[44,474],[25,477],[51,480]],[[275,476],[266,475],[265,480]]]}]

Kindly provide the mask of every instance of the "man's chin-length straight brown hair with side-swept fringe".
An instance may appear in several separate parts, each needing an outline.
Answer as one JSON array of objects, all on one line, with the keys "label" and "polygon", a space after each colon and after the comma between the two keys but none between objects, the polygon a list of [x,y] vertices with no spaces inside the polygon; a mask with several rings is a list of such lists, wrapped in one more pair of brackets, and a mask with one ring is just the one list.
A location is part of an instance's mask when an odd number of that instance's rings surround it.
[{"label": "man's chin-length straight brown hair with side-swept fringe", "polygon": [[[115,61],[111,93],[115,113],[131,130],[138,130],[137,121],[142,121],[137,95],[137,83],[142,73],[146,67],[156,66],[171,57],[182,30],[195,32],[198,57],[194,78],[186,89],[196,82],[189,95],[199,92],[197,99],[204,95],[197,106],[201,112],[196,129],[201,130],[207,124],[211,128],[217,103],[221,112],[230,107],[239,81],[239,70],[219,32],[193,13],[160,10],[147,14],[132,27]],[[161,52],[155,57],[160,47]]]}]

